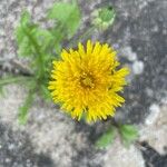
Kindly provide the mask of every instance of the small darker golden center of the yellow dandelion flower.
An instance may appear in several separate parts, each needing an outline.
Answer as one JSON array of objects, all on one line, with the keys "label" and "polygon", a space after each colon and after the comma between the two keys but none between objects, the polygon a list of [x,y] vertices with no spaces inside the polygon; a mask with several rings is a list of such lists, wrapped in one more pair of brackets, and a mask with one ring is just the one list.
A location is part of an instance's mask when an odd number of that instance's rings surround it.
[{"label": "small darker golden center of the yellow dandelion flower", "polygon": [[80,77],[80,84],[85,88],[94,88],[94,78],[88,73],[82,73]]}]

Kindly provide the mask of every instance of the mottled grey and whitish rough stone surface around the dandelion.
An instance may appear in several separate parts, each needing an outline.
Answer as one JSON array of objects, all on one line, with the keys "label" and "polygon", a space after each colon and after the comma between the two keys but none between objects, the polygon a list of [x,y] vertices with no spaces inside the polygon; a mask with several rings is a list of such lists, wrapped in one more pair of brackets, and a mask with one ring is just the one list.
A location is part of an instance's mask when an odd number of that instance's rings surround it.
[{"label": "mottled grey and whitish rough stone surface around the dandelion", "polygon": [[[33,19],[40,20],[52,2],[53,0],[0,1],[0,76],[4,69],[17,70],[10,61],[18,60],[13,29],[21,10],[27,8]],[[118,109],[116,120],[139,125],[139,141],[147,141],[159,154],[159,158],[165,159],[167,1],[79,0],[85,16],[84,24],[89,24],[89,14],[95,8],[109,3],[117,10],[116,22],[104,35],[96,33],[92,38],[112,45],[118,50],[120,61],[131,69],[128,78],[130,85],[125,90],[126,104]],[[119,140],[106,150],[96,150],[91,138],[96,138],[96,131],[99,127],[105,128],[105,125],[98,122],[86,126],[75,122],[51,104],[43,104],[40,98],[36,99],[30,109],[28,124],[19,126],[18,109],[27,90],[19,85],[7,86],[4,90],[4,97],[0,97],[2,167],[145,167],[150,163],[149,157],[154,158],[151,151],[143,157],[136,146],[125,149]],[[76,130],[79,126],[81,128]],[[151,161],[154,167],[166,167],[165,165],[165,160],[159,164],[158,159]]]}]

